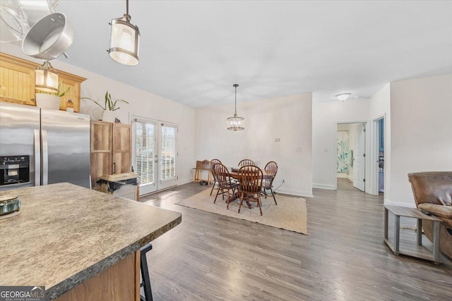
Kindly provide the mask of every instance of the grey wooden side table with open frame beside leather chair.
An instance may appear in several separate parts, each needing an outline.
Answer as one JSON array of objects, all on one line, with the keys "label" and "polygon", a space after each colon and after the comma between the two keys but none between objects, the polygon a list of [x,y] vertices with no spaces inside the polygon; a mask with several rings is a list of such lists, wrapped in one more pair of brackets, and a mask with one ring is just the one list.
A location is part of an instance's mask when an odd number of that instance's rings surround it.
[{"label": "grey wooden side table with open frame beside leather chair", "polygon": [[[384,242],[394,252],[394,254],[404,254],[411,257],[417,257],[421,259],[427,259],[435,264],[439,264],[439,227],[442,222],[441,219],[434,215],[423,214],[420,209],[410,207],[399,207],[383,204],[384,206]],[[388,211],[394,214],[394,244],[388,240]],[[420,252],[400,250],[400,216],[407,216],[417,219],[417,245],[422,245],[422,220],[427,219],[433,221],[433,251],[432,255],[426,256]]]}]

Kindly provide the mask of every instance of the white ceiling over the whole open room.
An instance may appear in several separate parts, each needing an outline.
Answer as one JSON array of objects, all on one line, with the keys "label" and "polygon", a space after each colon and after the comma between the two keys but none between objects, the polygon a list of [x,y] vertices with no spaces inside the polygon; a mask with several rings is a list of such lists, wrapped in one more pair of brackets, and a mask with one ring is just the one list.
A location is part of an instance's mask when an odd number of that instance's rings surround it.
[{"label": "white ceiling over the whole open room", "polygon": [[[452,72],[452,1],[129,1],[140,63],[109,59],[126,1],[64,0],[69,63],[192,107],[313,92],[370,97],[387,82]],[[59,58],[65,61],[64,58]]]}]

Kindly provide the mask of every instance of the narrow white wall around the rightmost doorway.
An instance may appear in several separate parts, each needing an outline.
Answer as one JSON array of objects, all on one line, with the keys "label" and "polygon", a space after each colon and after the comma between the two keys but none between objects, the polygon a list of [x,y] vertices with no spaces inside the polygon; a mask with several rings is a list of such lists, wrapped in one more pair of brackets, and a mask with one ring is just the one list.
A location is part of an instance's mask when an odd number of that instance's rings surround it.
[{"label": "narrow white wall around the rightmost doorway", "polygon": [[[371,162],[378,160],[378,126],[374,122],[376,119],[384,117],[384,199],[388,203],[391,197],[391,83],[384,85],[370,99],[371,130],[369,131],[374,144],[369,153]],[[371,193],[378,195],[378,172],[376,164],[371,164]]]}]

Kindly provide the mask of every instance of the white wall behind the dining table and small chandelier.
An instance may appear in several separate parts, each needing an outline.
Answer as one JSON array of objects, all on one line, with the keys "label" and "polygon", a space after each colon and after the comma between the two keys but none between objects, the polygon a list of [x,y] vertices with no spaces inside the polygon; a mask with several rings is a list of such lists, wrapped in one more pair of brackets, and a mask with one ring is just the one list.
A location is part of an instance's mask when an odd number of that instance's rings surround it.
[{"label": "white wall behind the dining table and small chandelier", "polygon": [[253,159],[261,162],[261,168],[276,161],[274,186],[285,180],[278,191],[311,197],[311,110],[311,93],[238,102],[237,115],[245,118],[245,129],[234,132],[226,128],[233,104],[196,109],[196,160],[216,158],[237,166],[241,159]]}]

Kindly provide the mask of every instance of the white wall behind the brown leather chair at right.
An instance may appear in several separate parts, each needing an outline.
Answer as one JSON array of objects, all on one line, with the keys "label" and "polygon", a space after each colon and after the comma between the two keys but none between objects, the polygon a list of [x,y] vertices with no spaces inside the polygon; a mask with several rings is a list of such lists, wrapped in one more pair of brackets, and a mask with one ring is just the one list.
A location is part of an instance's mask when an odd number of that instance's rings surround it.
[{"label": "white wall behind the brown leather chair at right", "polygon": [[452,171],[452,74],[391,82],[391,204],[415,206],[416,171]]}]

